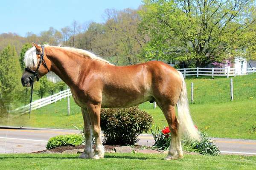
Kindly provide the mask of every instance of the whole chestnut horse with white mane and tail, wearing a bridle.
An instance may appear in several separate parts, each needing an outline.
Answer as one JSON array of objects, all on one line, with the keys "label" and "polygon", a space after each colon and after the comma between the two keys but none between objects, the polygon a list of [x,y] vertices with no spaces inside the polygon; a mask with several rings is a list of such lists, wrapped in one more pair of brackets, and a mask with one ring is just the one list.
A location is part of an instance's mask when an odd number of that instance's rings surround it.
[{"label": "whole chestnut horse with white mane and tail, wearing a bridle", "polygon": [[[89,51],[35,43],[26,51],[24,62],[26,69],[21,78],[24,87],[46,74],[52,81],[59,77],[70,87],[84,119],[85,148],[79,158],[104,157],[101,108],[128,108],[147,101],[157,102],[171,130],[166,160],[183,157],[181,138],[200,138],[189,114],[183,75],[164,62],[115,66]],[[94,153],[92,134],[96,144]]]}]

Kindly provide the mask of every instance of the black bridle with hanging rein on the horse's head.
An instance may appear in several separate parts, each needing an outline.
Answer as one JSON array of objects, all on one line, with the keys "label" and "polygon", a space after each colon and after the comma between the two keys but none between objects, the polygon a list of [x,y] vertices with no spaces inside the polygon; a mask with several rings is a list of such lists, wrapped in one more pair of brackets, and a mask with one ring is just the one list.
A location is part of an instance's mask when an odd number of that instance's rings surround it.
[{"label": "black bridle with hanging rein on the horse's head", "polygon": [[38,69],[41,65],[41,63],[43,62],[45,68],[47,69],[47,71],[49,72],[49,68],[46,65],[46,62],[44,61],[44,45],[41,46],[42,48],[42,53],[39,53],[39,51],[36,51],[36,54],[40,55],[40,60],[38,62],[38,66],[36,68],[35,71],[29,69],[29,68],[25,68],[25,71],[32,73],[31,76],[29,76],[29,82],[31,85],[31,95],[30,95],[30,106],[29,106],[29,119],[30,119],[30,113],[31,113],[31,103],[32,103],[32,95],[33,95],[33,87],[34,87],[34,77],[36,77],[37,81],[39,81],[39,76],[38,76]]}]

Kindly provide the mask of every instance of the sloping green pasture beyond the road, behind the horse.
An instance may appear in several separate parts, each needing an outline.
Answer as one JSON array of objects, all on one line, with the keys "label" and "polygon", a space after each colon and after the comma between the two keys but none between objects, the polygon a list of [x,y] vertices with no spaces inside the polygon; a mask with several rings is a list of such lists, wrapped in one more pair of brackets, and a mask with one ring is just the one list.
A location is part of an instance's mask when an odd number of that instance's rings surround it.
[{"label": "sloping green pasture beyond the road, behind the horse", "polygon": [[[233,77],[234,101],[230,101],[230,79],[199,78],[186,79],[188,94],[190,84],[194,83],[194,104],[190,104],[192,118],[199,130],[209,136],[256,139],[256,74]],[[190,100],[190,96],[189,100]],[[31,127],[74,128],[81,127],[83,120],[80,108],[70,100],[71,115],[67,116],[67,99],[56,104],[32,111],[9,122],[9,125]],[[154,125],[167,126],[163,113],[149,102],[140,105],[154,117]]]}]

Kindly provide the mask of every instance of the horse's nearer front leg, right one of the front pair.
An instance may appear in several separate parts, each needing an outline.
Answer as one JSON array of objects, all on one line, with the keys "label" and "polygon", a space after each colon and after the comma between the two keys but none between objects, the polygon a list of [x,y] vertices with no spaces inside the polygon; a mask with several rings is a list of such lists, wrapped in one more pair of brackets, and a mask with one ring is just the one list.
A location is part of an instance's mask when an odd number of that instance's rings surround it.
[{"label": "horse's nearer front leg, right one of the front pair", "polygon": [[101,108],[101,103],[87,105],[87,109],[92,121],[93,136],[95,137],[95,145],[96,145],[93,159],[104,158],[104,147],[102,145],[102,141],[100,137],[100,132],[101,132],[100,108]]}]

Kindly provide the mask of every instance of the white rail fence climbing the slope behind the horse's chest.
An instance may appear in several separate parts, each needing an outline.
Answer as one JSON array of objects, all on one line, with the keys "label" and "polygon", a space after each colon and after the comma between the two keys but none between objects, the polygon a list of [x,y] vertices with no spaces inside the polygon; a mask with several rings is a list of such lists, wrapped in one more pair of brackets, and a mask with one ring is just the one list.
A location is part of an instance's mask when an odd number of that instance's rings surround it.
[{"label": "white rail fence climbing the slope behind the horse's chest", "polygon": [[[71,96],[71,91],[70,91],[70,89],[67,89],[67,90],[58,92],[56,94],[53,94],[52,96],[48,96],[48,97],[44,97],[42,99],[35,100],[34,102],[31,103],[31,111],[41,108],[41,107],[44,107],[51,103],[57,102],[58,100],[61,100],[63,98],[69,97],[69,96]],[[17,112],[19,112],[19,113],[29,112],[29,105],[30,104],[19,107],[19,108],[13,110],[12,112],[16,112],[16,113]]]}]

